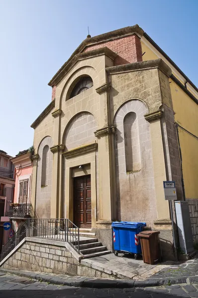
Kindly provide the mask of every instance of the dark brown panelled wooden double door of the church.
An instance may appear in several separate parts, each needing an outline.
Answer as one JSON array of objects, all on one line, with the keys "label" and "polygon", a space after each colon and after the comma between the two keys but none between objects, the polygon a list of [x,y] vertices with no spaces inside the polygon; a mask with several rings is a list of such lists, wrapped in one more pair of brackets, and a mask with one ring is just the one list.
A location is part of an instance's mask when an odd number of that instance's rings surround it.
[{"label": "dark brown panelled wooden double door of the church", "polygon": [[91,175],[74,178],[74,224],[92,227]]}]

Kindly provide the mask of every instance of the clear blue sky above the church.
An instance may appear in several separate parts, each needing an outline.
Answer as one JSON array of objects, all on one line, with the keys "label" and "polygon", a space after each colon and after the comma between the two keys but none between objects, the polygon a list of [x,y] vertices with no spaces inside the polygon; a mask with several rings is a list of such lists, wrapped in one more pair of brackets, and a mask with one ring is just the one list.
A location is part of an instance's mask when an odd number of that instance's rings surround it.
[{"label": "clear blue sky above the church", "polygon": [[139,24],[198,86],[198,0],[0,0],[0,149],[33,144],[47,85],[86,38]]}]

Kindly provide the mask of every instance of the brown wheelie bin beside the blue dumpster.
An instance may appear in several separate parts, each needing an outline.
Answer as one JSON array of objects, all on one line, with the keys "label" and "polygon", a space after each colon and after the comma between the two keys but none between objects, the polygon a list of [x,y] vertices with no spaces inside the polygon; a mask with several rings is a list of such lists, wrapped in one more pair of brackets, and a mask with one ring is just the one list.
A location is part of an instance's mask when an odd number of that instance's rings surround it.
[{"label": "brown wheelie bin beside the blue dumpster", "polygon": [[144,263],[154,265],[161,261],[159,234],[160,231],[142,231],[137,235],[140,237]]}]

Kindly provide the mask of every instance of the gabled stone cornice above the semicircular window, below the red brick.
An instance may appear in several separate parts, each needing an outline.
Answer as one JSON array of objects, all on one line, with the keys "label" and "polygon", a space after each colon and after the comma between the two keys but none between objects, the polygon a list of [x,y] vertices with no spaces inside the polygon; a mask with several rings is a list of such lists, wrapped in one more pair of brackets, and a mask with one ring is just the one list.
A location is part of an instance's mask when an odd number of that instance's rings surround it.
[{"label": "gabled stone cornice above the semicircular window, below the red brick", "polygon": [[53,76],[53,78],[48,83],[48,85],[49,86],[55,86],[55,85],[57,85],[60,82],[60,80],[65,76],[65,74],[67,74],[67,72],[70,70],[70,68],[72,66],[74,66],[74,64],[77,61],[83,60],[83,59],[87,59],[87,58],[91,58],[91,57],[100,56],[100,55],[105,55],[105,56],[109,57],[112,60],[114,60],[115,57],[117,56],[116,53],[114,53],[113,51],[111,51],[107,47],[103,47],[103,48],[99,48],[99,49],[96,49],[96,50],[92,50],[92,51],[88,51],[88,52],[83,52],[83,53],[80,53],[80,54],[76,54],[71,60],[69,59],[62,66],[62,68],[58,71],[58,73],[56,73]]}]

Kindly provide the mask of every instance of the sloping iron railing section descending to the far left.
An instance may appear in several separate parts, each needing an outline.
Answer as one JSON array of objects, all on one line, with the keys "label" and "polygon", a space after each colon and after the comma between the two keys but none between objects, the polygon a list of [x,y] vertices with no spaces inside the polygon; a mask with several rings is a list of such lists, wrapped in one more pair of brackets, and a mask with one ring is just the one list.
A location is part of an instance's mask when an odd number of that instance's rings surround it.
[{"label": "sloping iron railing section descending to the far left", "polygon": [[27,236],[28,220],[22,224],[16,233],[10,238],[5,245],[2,245],[0,261],[2,261],[15,247],[18,245],[24,237]]}]

